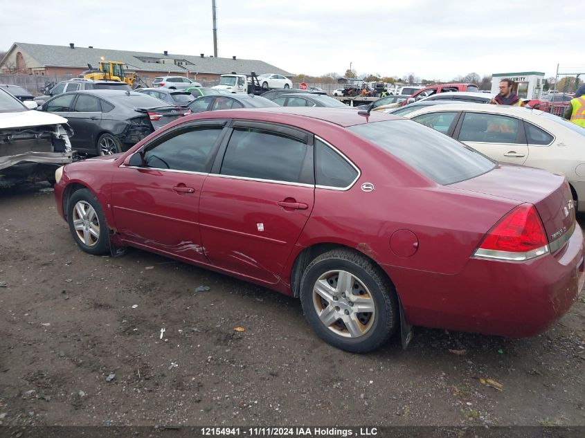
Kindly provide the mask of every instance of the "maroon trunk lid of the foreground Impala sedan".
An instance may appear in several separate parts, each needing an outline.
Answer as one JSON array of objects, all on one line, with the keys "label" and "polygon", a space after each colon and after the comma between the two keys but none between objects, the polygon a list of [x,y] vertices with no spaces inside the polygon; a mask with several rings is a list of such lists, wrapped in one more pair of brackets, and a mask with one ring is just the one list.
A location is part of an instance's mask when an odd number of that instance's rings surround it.
[{"label": "maroon trunk lid of the foreground Impala sedan", "polygon": [[551,252],[562,246],[575,226],[573,197],[564,175],[532,167],[499,165],[491,172],[451,187],[532,203],[542,219],[548,242],[552,244]]}]

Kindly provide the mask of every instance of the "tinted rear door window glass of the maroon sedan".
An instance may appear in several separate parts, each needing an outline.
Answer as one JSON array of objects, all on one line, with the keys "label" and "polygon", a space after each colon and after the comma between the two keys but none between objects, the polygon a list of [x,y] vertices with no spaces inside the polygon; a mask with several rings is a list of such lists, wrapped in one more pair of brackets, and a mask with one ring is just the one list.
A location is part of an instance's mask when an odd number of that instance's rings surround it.
[{"label": "tinted rear door window glass of the maroon sedan", "polygon": [[233,130],[222,175],[298,183],[307,145],[296,138],[260,129]]}]

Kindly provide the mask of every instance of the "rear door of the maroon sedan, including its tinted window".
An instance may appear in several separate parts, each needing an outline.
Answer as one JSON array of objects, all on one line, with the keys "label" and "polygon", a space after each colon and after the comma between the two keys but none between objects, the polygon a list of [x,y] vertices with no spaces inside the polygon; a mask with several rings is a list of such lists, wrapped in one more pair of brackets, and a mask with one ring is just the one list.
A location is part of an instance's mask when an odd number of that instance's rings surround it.
[{"label": "rear door of the maroon sedan, including its tinted window", "polygon": [[[201,240],[215,266],[274,284],[314,203],[312,136],[237,122],[201,192]],[[220,152],[221,154],[221,152]]]}]

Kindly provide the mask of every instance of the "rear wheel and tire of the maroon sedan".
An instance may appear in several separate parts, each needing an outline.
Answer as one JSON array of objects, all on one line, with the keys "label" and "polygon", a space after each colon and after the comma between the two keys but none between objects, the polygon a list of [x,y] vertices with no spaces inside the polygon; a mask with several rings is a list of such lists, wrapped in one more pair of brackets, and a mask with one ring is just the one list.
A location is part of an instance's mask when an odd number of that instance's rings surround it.
[{"label": "rear wheel and tire of the maroon sedan", "polygon": [[331,250],[307,266],[300,302],[316,334],[348,352],[370,352],[394,333],[393,285],[370,259],[350,250]]}]

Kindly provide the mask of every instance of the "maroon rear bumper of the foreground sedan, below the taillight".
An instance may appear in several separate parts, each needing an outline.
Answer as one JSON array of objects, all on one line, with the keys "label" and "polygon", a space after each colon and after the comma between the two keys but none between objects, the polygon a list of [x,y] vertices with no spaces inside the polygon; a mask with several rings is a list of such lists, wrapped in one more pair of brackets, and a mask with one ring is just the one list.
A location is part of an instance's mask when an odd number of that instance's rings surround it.
[{"label": "maroon rear bumper of the foreground sedan, below the taillight", "polygon": [[471,258],[456,275],[386,271],[395,280],[411,325],[509,338],[535,336],[566,313],[582,289],[583,234],[575,227],[564,248],[528,262]]}]

